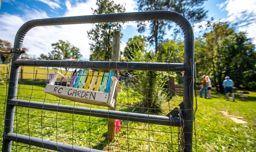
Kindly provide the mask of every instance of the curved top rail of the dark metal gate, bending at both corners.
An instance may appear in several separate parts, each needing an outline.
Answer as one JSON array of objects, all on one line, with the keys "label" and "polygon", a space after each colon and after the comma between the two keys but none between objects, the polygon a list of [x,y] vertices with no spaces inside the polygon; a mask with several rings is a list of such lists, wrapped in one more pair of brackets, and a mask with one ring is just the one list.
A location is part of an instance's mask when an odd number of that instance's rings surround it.
[{"label": "curved top rail of the dark metal gate, bending at both corners", "polygon": [[[148,12],[129,12],[129,13],[114,13],[114,14],[99,14],[85,15],[62,18],[46,18],[30,20],[24,23],[18,30],[13,52],[15,49],[22,48],[23,40],[26,33],[37,26],[54,26],[68,24],[83,24],[83,23],[104,23],[104,22],[121,22],[121,21],[139,21],[139,20],[171,20],[177,23],[183,31],[185,38],[185,62],[193,56],[194,50],[194,34],[189,21],[181,14],[173,11],[148,11]],[[192,57],[193,58],[193,57]],[[188,60],[188,61],[189,61]]]}]

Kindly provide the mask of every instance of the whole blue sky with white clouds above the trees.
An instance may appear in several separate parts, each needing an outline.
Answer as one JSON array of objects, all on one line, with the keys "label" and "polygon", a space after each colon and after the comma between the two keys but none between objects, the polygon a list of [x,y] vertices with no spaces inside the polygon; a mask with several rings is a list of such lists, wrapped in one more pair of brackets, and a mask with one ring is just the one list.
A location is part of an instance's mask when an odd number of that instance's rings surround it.
[{"label": "whole blue sky with white clouds above the trees", "polygon": [[[114,0],[115,3],[125,4],[126,12],[137,12],[136,0]],[[56,18],[66,16],[92,15],[97,9],[96,0],[2,0],[0,8],[0,39],[14,43],[18,29],[28,20],[40,18]],[[204,7],[208,10],[208,19],[226,20],[237,24],[237,31],[246,31],[249,38],[256,44],[256,1],[255,0],[208,0]],[[203,25],[205,21],[197,25]],[[23,46],[29,48],[28,54],[37,58],[41,53],[51,51],[51,43],[59,39],[68,40],[78,47],[83,59],[88,59],[90,50],[87,31],[91,24],[45,26],[31,29],[25,36]],[[194,27],[195,37],[199,37],[204,29]],[[200,32],[201,31],[201,32]],[[123,25],[121,50],[129,38],[139,35],[137,24],[127,22]],[[146,31],[141,34],[147,36]],[[170,37],[168,31],[166,38]]]}]

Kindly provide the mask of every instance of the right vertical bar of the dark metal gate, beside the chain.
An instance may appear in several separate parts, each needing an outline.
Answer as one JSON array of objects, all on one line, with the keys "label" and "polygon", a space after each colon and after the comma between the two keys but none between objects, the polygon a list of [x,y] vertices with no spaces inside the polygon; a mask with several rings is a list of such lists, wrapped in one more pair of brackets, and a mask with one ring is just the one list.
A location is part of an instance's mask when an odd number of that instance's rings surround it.
[{"label": "right vertical bar of the dark metal gate, beside the chain", "polygon": [[183,119],[188,126],[184,128],[185,149],[184,152],[192,152],[193,144],[193,72],[194,72],[194,34],[190,30],[188,37],[185,37],[184,62],[190,68],[184,74],[184,96],[183,96]]}]

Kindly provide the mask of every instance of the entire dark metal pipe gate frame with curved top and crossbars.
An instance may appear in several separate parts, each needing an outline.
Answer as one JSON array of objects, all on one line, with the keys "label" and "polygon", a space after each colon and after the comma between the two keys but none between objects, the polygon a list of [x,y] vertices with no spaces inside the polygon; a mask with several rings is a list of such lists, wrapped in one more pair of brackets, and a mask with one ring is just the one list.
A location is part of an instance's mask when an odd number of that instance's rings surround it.
[{"label": "entire dark metal pipe gate frame with curved top and crossbars", "polygon": [[[184,34],[184,63],[141,63],[141,62],[118,62],[118,61],[54,61],[54,60],[20,60],[21,48],[26,33],[37,26],[54,26],[68,24],[84,23],[104,23],[104,22],[123,22],[123,21],[140,21],[140,20],[171,20],[177,23]],[[22,134],[13,133],[13,124],[15,116],[15,106],[30,107],[63,113],[74,113],[79,115],[90,115],[102,118],[114,118],[119,120],[129,120],[150,124],[160,124],[166,126],[180,127],[180,119],[171,116],[158,116],[148,114],[138,114],[121,111],[90,109],[85,107],[74,107],[67,105],[56,105],[42,102],[33,102],[26,100],[17,100],[17,88],[20,66],[52,66],[52,67],[76,67],[76,68],[97,68],[97,69],[127,69],[127,70],[144,70],[144,71],[167,71],[182,72],[184,74],[183,90],[183,108],[181,109],[184,119],[184,137],[185,152],[192,151],[193,140],[193,65],[194,65],[194,35],[193,29],[188,20],[177,12],[173,11],[148,11],[148,12],[130,12],[115,13],[102,15],[86,15],[63,18],[48,18],[30,20],[24,23],[18,30],[14,46],[12,49],[13,58],[10,69],[9,88],[7,95],[7,105],[4,120],[4,138],[2,151],[10,152],[12,141],[43,147],[51,150],[59,150],[61,147],[64,151],[100,151],[96,149],[84,148],[74,145],[57,143],[54,141],[43,140],[40,138],[29,137]]]}]

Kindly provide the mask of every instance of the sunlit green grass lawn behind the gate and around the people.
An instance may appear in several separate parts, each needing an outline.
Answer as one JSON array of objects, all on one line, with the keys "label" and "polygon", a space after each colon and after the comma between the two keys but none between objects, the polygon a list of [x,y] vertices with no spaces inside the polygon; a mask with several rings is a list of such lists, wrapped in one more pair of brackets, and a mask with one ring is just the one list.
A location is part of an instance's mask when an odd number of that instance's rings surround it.
[{"label": "sunlit green grass lawn behind the gate and around the people", "polygon": [[[8,65],[0,64],[0,72],[6,73]],[[24,79],[33,80],[34,73],[38,69],[37,80],[46,79],[47,69],[39,67],[24,67]],[[53,69],[49,69],[49,73]],[[41,76],[40,76],[41,75]],[[6,76],[0,74],[3,78]],[[45,77],[45,78],[44,78]],[[3,79],[1,78],[1,79]],[[5,81],[6,82],[6,81]],[[4,110],[7,94],[7,84],[0,85],[0,136],[4,128]],[[125,85],[125,84],[124,84]],[[92,107],[98,109],[108,109],[101,106],[90,106],[71,101],[60,100],[55,96],[43,93],[45,85],[24,85],[18,86],[18,99],[54,103],[61,105]],[[238,90],[234,90],[236,92]],[[195,113],[196,134],[193,137],[193,151],[256,151],[256,92],[248,91],[246,102],[239,101],[239,96],[235,93],[236,102],[226,101],[225,94],[218,94],[212,91],[212,99],[197,98],[197,109]],[[197,91],[197,97],[199,91]],[[129,96],[129,98],[127,98]],[[147,113],[140,108],[134,108],[138,98],[132,89],[123,86],[123,91],[118,94],[119,111],[136,113]],[[169,103],[163,102],[162,109],[173,109],[181,102],[181,97],[176,96],[175,100]],[[129,101],[129,104],[128,104]],[[129,105],[129,109],[127,108]],[[194,109],[196,99],[194,98]],[[166,115],[169,110],[162,110],[159,115]],[[224,115],[227,112],[229,115]],[[239,124],[230,118],[239,118],[246,121],[246,124]],[[66,144],[74,144],[88,148],[95,148],[104,151],[177,151],[177,127],[160,126],[154,124],[143,124],[136,122],[121,122],[121,130],[116,134],[114,140],[107,140],[107,119],[67,113],[56,113],[46,110],[35,110],[32,108],[16,107],[14,132],[33,137],[54,140]],[[172,132],[172,133],[171,133]],[[196,136],[195,136],[196,135]],[[196,141],[195,141],[196,137]],[[148,142],[151,141],[150,143]],[[2,144],[2,138],[0,138]],[[25,147],[23,147],[25,146]],[[13,151],[27,151],[28,145],[13,142]],[[1,146],[0,146],[1,147]],[[30,146],[31,151],[43,150]],[[37,148],[34,149],[33,148]]]}]

